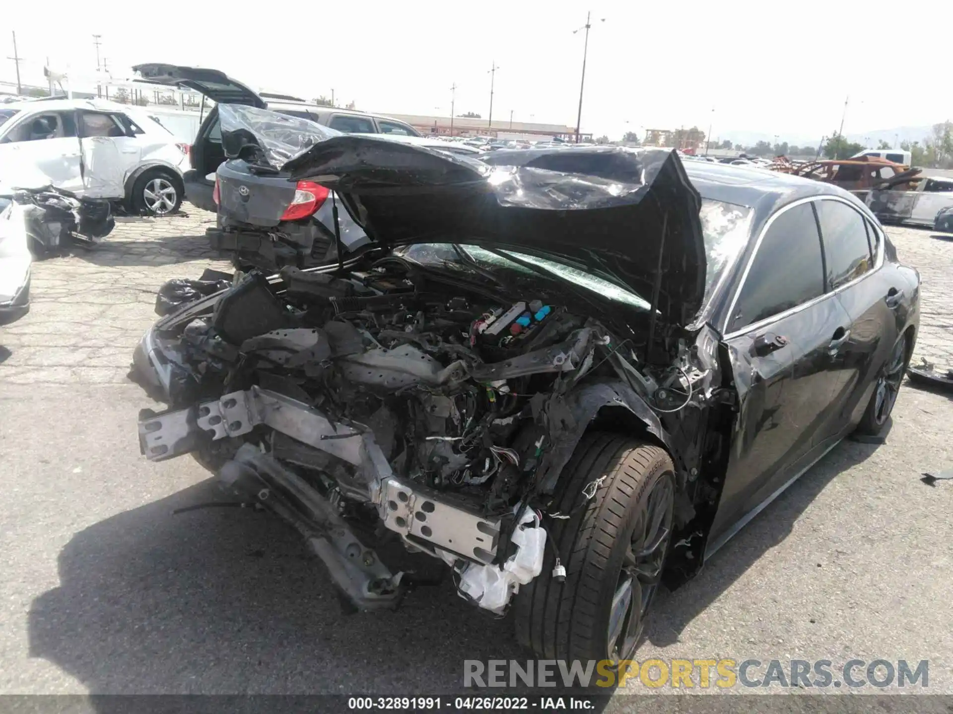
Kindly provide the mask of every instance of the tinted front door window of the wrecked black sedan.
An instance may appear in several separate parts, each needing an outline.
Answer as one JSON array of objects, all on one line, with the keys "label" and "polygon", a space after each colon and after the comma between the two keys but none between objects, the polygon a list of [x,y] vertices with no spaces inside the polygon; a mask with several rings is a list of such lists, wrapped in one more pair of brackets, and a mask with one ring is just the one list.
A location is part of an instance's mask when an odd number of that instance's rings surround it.
[{"label": "tinted front door window of the wrecked black sedan", "polygon": [[728,321],[728,331],[823,295],[823,273],[821,237],[811,205],[782,211],[761,239]]}]

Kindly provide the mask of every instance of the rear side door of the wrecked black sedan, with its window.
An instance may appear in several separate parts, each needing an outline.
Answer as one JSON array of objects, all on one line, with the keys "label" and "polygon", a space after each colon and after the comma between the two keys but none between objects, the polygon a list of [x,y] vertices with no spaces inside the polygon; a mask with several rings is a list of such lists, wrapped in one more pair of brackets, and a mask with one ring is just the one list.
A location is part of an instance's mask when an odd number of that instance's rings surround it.
[{"label": "rear side door of the wrecked black sedan, with its window", "polygon": [[896,275],[879,268],[882,236],[861,211],[836,198],[817,202],[824,246],[826,281],[850,317],[850,335],[837,353],[832,402],[834,424],[821,439],[834,440],[860,421],[876,372],[900,336],[904,304]]}]

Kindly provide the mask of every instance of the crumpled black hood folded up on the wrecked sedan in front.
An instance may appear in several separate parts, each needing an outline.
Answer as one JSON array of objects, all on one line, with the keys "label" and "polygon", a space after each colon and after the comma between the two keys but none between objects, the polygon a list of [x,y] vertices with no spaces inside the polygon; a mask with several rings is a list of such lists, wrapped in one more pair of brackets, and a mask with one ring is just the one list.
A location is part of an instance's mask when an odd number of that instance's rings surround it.
[{"label": "crumpled black hood folded up on the wrecked sedan in front", "polygon": [[[223,123],[223,143],[228,129]],[[253,123],[243,129],[247,144]],[[684,325],[700,308],[700,196],[674,150],[500,150],[474,159],[370,136],[309,141],[275,168],[334,189],[382,245],[458,243],[545,256],[646,300],[660,268],[661,316]]]}]

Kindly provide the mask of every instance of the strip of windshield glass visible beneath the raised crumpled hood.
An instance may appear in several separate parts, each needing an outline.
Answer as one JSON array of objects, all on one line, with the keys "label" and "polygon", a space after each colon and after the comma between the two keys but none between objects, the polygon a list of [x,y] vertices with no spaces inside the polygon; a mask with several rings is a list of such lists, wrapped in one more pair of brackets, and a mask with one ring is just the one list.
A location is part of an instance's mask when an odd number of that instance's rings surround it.
[{"label": "strip of windshield glass visible beneath the raised crumpled hood", "polygon": [[[485,250],[484,248],[477,246],[458,246],[457,248],[465,252],[462,258],[450,243],[421,243],[405,248],[400,252],[403,257],[410,258],[422,266],[449,268],[464,274],[469,273],[470,277],[484,281],[488,278],[491,280],[497,279],[501,285],[508,287],[518,286],[521,283],[526,283],[528,280],[538,284],[540,278],[543,280],[546,279],[546,276],[540,275],[540,273],[534,272],[530,268],[519,265],[516,261],[507,260],[504,256]],[[648,310],[651,307],[647,300],[639,297],[636,293],[619,288],[613,283],[595,275],[590,275],[578,268],[565,266],[561,263],[546,260],[545,258],[537,258],[535,255],[517,253],[513,250],[501,252],[512,255],[517,260],[549,270],[555,273],[558,278],[567,280],[570,283],[578,285],[580,288],[598,292],[610,300],[632,307],[638,307],[643,310]],[[475,262],[476,266],[467,265],[470,260]],[[489,274],[485,275],[481,270],[485,270]],[[553,280],[555,282],[557,278]],[[527,285],[527,287],[529,286]]]}]

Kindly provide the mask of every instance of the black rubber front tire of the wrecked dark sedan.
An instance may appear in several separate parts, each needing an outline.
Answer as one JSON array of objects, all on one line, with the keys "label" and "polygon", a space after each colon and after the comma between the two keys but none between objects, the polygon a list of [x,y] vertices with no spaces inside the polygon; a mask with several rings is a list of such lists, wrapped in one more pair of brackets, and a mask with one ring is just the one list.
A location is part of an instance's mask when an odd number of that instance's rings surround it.
[{"label": "black rubber front tire of the wrecked dark sedan", "polygon": [[[584,489],[595,497],[587,500]],[[672,533],[675,474],[672,460],[659,446],[627,436],[586,434],[566,465],[550,512],[571,514],[569,519],[545,519],[549,537],[566,568],[566,581],[552,577],[553,548],[547,547],[542,573],[516,596],[517,639],[537,657],[565,660],[631,659],[641,638],[645,615],[658,588]],[[642,606],[622,623],[625,644],[609,634],[613,598],[624,591],[632,563],[633,539],[648,530],[650,509],[659,516],[647,579],[639,584]],[[639,526],[639,533],[636,533]],[[628,557],[627,557],[628,556]],[[623,568],[624,565],[624,568]],[[651,583],[649,582],[651,581]],[[635,593],[635,586],[632,592]],[[634,602],[635,597],[630,597]],[[621,642],[621,640],[618,640]]]}]

